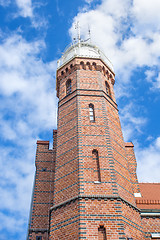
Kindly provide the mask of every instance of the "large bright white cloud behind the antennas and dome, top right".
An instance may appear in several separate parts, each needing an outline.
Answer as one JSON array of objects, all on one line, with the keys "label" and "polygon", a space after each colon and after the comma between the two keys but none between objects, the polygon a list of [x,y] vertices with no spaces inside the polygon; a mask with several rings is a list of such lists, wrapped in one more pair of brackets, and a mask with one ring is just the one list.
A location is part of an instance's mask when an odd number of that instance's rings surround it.
[{"label": "large bright white cloud behind the antennas and dome, top right", "polygon": [[89,25],[92,41],[101,46],[112,60],[121,82],[126,83],[136,68],[160,65],[160,33],[156,18],[159,19],[159,4],[158,0],[154,0],[154,4],[103,0],[94,10],[78,13],[70,34],[72,38],[75,36],[74,24],[79,21],[82,38],[87,39]]}]

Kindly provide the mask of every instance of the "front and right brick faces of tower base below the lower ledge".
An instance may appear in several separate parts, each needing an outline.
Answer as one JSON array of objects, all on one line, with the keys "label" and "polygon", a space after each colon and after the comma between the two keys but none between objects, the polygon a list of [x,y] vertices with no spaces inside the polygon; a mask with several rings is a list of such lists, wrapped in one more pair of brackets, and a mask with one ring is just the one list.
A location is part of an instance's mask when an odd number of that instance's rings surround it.
[{"label": "front and right brick faces of tower base below the lower ledge", "polygon": [[142,227],[139,225],[139,213],[125,203],[110,199],[82,199],[80,201],[81,239],[97,239],[98,228],[104,226],[107,240],[132,237],[142,240]]}]

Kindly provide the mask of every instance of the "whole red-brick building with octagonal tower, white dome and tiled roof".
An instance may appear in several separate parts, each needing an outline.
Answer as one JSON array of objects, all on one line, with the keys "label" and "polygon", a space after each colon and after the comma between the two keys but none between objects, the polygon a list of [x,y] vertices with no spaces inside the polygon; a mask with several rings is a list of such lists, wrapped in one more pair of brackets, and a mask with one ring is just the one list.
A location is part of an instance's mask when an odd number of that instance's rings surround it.
[{"label": "whole red-brick building with octagonal tower, white dome and tiled roof", "polygon": [[79,41],[59,60],[56,81],[58,126],[52,150],[37,141],[28,239],[160,239],[160,184],[138,183],[111,62]]}]

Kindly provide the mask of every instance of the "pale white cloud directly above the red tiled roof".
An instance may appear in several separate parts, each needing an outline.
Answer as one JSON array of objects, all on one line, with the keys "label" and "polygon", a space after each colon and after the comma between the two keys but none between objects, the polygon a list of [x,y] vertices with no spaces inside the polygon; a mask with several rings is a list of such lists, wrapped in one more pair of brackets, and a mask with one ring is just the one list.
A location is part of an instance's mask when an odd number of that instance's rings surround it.
[{"label": "pale white cloud directly above the red tiled roof", "polygon": [[157,137],[151,144],[141,149],[136,147],[138,161],[138,176],[141,182],[160,182],[160,137]]}]

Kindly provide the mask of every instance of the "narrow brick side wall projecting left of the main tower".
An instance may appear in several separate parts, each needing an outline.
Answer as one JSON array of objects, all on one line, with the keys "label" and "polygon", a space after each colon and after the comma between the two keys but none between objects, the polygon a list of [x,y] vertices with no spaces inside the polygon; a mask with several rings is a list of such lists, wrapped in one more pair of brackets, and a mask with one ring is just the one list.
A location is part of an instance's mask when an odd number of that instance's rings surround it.
[{"label": "narrow brick side wall projecting left of the main tower", "polygon": [[48,141],[37,141],[29,240],[36,240],[36,236],[42,236],[43,240],[48,239],[49,209],[53,205],[55,154],[55,149],[49,150]]}]

